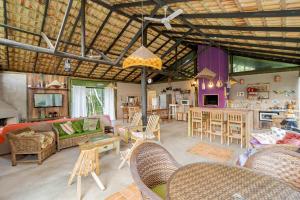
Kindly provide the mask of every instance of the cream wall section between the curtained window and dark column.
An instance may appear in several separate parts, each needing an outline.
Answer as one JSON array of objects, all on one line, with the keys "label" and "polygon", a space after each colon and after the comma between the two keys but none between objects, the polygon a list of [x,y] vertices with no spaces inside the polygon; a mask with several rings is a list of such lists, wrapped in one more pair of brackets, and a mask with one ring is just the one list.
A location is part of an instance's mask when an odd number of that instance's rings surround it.
[{"label": "cream wall section between the curtained window and dark column", "polygon": [[127,96],[141,97],[141,85],[134,83],[117,82],[117,118],[122,118],[122,99]]}]

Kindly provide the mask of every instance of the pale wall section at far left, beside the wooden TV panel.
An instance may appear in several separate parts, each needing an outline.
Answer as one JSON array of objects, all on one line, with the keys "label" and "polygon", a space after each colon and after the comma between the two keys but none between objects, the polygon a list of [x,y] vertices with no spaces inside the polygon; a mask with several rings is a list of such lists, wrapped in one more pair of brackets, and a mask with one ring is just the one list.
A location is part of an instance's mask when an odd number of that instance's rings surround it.
[{"label": "pale wall section at far left, beside the wooden TV panel", "polygon": [[25,73],[0,73],[0,99],[14,107],[22,118],[27,117],[26,87],[27,81]]}]

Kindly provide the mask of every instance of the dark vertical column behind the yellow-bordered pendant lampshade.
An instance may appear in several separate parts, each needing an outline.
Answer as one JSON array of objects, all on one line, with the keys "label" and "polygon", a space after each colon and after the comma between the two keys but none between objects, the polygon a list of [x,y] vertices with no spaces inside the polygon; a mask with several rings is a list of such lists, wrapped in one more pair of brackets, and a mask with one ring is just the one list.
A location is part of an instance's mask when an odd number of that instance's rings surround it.
[{"label": "dark vertical column behind the yellow-bordered pendant lampshade", "polygon": [[[144,30],[143,37],[143,45],[147,47],[147,27]],[[142,75],[141,75],[141,88],[142,88],[142,120],[143,126],[147,125],[147,68],[142,68]]]}]

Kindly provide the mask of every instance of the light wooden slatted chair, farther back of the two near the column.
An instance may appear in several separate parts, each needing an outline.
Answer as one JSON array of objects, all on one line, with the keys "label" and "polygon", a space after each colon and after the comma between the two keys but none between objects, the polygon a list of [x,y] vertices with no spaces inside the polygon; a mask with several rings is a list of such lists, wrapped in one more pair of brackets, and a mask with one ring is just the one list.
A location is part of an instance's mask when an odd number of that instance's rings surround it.
[{"label": "light wooden slatted chair, farther back of the two near the column", "polygon": [[123,140],[125,143],[128,143],[131,136],[131,131],[133,131],[133,129],[138,129],[138,127],[141,126],[141,122],[142,113],[136,112],[134,113],[129,125],[116,127],[116,130],[118,131],[117,134],[121,137],[121,140]]}]

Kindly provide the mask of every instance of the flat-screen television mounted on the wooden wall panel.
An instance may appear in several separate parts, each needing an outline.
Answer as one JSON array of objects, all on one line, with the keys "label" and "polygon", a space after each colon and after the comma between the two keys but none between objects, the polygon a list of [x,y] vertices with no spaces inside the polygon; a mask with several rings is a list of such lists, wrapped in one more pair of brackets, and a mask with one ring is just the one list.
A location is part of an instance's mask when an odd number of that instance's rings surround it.
[{"label": "flat-screen television mounted on the wooden wall panel", "polygon": [[33,94],[35,108],[62,107],[63,94]]}]

